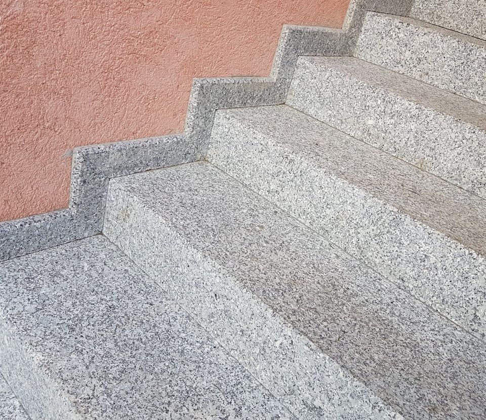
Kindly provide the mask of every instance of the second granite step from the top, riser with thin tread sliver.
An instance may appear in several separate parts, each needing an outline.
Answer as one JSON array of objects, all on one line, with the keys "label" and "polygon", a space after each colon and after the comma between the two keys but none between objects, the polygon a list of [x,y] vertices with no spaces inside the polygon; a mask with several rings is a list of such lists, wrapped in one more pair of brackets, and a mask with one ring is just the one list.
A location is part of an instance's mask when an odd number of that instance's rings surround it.
[{"label": "second granite step from the top, riser with thin tread sliver", "polygon": [[354,55],[486,103],[486,41],[411,18],[368,13]]}]

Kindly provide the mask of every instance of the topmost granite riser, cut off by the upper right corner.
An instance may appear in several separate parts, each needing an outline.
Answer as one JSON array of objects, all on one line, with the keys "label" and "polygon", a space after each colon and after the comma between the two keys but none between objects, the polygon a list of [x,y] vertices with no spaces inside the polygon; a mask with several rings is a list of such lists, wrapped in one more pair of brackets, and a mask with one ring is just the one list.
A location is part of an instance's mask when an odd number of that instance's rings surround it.
[{"label": "topmost granite riser, cut off by the upper right corner", "polygon": [[486,0],[416,0],[410,16],[486,40]]}]

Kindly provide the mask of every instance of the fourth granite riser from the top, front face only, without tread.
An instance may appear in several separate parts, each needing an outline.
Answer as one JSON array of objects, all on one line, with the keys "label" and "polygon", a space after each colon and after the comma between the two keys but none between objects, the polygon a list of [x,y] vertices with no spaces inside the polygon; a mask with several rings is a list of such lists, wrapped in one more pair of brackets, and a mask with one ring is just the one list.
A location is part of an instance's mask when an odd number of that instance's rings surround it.
[{"label": "fourth granite riser from the top, front face only, without tread", "polygon": [[483,257],[242,127],[224,111],[217,112],[207,159],[484,338]]}]

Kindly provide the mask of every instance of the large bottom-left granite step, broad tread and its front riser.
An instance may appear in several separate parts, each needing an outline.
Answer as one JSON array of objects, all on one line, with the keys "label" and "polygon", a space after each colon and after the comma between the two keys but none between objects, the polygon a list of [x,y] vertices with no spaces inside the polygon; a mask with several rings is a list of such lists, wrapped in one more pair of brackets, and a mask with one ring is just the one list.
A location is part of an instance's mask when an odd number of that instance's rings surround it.
[{"label": "large bottom-left granite step, broad tread and its front riser", "polygon": [[0,278],[0,368],[32,420],[295,420],[102,236]]}]

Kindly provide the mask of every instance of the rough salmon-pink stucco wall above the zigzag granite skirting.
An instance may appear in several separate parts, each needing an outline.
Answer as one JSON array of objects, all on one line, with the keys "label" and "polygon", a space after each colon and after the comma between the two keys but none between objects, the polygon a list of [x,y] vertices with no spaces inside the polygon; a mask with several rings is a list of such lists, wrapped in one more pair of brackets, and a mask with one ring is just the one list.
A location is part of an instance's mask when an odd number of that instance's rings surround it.
[{"label": "rough salmon-pink stucco wall above the zigzag granite skirting", "polygon": [[74,146],[181,132],[191,79],[268,75],[348,0],[2,0],[0,220],[67,206]]}]

